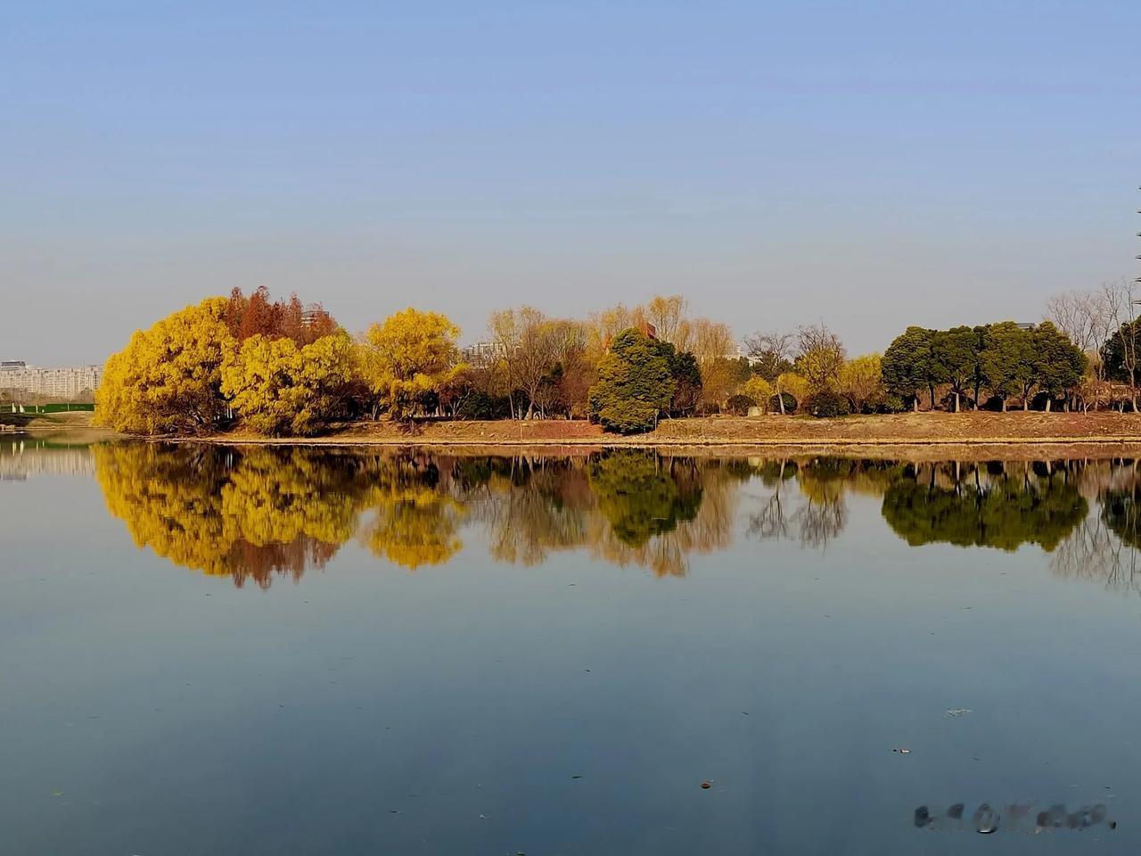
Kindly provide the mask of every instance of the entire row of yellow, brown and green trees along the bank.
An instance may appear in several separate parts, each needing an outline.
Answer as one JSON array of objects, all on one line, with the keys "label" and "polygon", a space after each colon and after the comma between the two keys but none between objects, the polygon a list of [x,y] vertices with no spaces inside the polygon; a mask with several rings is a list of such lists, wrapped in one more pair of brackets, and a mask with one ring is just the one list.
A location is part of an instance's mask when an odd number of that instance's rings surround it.
[{"label": "entire row of yellow, brown and green trees along the bank", "polygon": [[305,436],[382,414],[590,418],[632,433],[662,418],[753,409],[1005,410],[1012,398],[1085,409],[1110,401],[1115,382],[1136,409],[1133,304],[1132,283],[1110,284],[1053,299],[1053,321],[1038,325],[912,326],[882,356],[855,357],[823,323],[758,333],[742,352],[726,324],[693,316],[680,296],[585,318],[525,306],[494,312],[487,339],[461,353],[460,330],[438,313],[408,308],[354,337],[321,305],[235,290],[137,331],[108,360],[97,410],[128,433],[241,423]]}]

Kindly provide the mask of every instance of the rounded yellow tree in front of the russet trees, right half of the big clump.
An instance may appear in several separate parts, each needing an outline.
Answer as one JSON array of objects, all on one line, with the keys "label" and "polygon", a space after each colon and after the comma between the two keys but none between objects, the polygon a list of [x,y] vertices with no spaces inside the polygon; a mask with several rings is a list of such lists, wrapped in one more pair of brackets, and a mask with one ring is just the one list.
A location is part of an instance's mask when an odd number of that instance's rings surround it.
[{"label": "rounded yellow tree in front of the russet trees, right half of the big clump", "polygon": [[250,429],[309,436],[343,415],[355,377],[355,348],[345,333],[299,347],[253,336],[222,366],[221,391]]}]

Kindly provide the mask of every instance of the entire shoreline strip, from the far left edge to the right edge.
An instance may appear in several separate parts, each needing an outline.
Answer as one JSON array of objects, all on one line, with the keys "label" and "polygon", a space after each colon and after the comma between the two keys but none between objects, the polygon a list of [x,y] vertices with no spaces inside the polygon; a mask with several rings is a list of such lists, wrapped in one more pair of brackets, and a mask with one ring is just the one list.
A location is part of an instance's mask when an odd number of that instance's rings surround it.
[{"label": "entire shoreline strip, from the far left edge to the right edge", "polygon": [[804,417],[701,417],[663,420],[656,430],[632,436],[605,434],[583,420],[518,422],[421,422],[414,431],[388,421],[353,422],[317,437],[262,437],[242,430],[209,435],[143,437],[70,425],[39,423],[9,437],[82,437],[88,442],[321,449],[426,449],[458,453],[563,450],[586,454],[607,449],[657,449],[671,453],[771,457],[836,454],[871,458],[1138,457],[1141,414],[1097,413],[905,413],[839,419]]}]

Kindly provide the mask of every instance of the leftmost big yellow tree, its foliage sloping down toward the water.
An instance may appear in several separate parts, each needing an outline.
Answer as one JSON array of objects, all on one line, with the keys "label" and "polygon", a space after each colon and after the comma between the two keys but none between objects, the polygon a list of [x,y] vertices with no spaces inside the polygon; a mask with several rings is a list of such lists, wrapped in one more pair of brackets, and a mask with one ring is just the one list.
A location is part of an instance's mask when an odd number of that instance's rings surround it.
[{"label": "leftmost big yellow tree, its foliage sloping down toward the water", "polygon": [[99,425],[128,434],[202,434],[226,415],[221,365],[236,348],[226,300],[208,298],[137,330],[107,360],[96,393]]}]

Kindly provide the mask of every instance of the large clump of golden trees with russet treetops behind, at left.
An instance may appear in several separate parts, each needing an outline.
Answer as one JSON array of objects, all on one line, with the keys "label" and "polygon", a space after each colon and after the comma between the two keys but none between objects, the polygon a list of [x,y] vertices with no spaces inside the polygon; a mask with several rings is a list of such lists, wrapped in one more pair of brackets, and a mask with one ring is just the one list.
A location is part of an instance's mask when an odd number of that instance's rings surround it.
[{"label": "large clump of golden trees with russet treetops behind, at left", "polygon": [[[250,332],[257,330],[258,332]],[[235,419],[308,436],[348,414],[357,346],[294,296],[208,298],[136,331],[106,364],[96,420],[126,434],[209,434]]]}]

